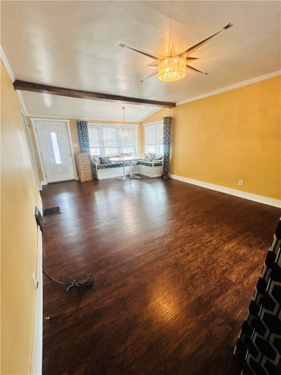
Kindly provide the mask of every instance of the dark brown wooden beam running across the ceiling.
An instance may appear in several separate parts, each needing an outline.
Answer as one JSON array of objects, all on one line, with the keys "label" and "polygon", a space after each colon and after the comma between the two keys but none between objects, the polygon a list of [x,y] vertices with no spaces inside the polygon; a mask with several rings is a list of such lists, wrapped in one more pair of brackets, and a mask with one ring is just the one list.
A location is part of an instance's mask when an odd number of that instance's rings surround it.
[{"label": "dark brown wooden beam running across the ceiling", "polygon": [[71,98],[100,100],[102,102],[152,105],[155,107],[164,107],[164,108],[173,108],[176,106],[176,103],[170,103],[170,102],[159,102],[156,100],[128,98],[125,96],[118,96],[118,95],[111,95],[111,94],[100,94],[97,92],[80,91],[80,90],[73,90],[70,88],[62,88],[62,87],[55,87],[55,86],[46,86],[44,84],[24,82],[24,81],[19,81],[19,80],[16,80],[14,82],[14,89],[22,90],[22,91],[39,92],[43,94],[68,96]]}]

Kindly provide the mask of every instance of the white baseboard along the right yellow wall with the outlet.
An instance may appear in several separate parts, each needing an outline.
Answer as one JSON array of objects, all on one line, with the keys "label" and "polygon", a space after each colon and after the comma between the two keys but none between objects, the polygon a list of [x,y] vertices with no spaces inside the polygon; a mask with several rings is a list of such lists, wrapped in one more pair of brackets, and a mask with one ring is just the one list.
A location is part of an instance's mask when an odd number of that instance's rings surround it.
[{"label": "white baseboard along the right yellow wall with the outlet", "polygon": [[250,201],[259,202],[259,203],[263,203],[265,205],[281,208],[281,200],[279,200],[279,199],[263,197],[262,195],[247,193],[245,191],[231,189],[229,187],[224,187],[224,186],[220,186],[220,185],[209,184],[208,182],[193,180],[191,178],[181,177],[181,176],[177,176],[175,174],[169,174],[169,177],[171,177],[175,180],[182,181],[182,182],[187,182],[188,184],[206,187],[207,189],[220,191],[221,193],[235,195],[236,197],[248,199]]}]

